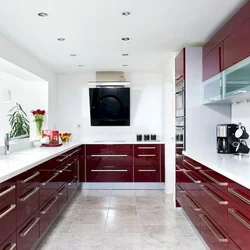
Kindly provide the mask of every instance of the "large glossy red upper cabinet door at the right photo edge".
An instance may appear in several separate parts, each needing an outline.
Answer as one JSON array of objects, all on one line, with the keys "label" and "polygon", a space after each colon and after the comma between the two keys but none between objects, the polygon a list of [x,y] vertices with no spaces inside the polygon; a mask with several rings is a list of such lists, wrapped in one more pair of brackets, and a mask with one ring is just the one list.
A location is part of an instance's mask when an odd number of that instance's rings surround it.
[{"label": "large glossy red upper cabinet door at the right photo edge", "polygon": [[250,56],[250,19],[224,41],[224,69]]}]

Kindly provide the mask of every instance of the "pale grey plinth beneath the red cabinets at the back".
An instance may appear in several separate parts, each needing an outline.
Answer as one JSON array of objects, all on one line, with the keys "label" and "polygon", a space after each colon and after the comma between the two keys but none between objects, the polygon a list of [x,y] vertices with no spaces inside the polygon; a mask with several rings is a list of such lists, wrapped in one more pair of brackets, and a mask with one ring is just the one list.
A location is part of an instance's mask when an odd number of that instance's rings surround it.
[{"label": "pale grey plinth beneath the red cabinets at the back", "polygon": [[81,189],[149,189],[149,190],[163,190],[164,182],[82,182]]}]

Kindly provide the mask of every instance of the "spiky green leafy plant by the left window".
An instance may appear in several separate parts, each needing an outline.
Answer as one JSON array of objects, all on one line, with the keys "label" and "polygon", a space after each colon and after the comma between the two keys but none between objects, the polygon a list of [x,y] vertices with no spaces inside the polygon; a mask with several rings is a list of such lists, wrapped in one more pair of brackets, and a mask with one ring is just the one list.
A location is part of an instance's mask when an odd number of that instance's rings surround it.
[{"label": "spiky green leafy plant by the left window", "polygon": [[10,138],[25,135],[29,137],[30,125],[27,119],[27,114],[24,112],[22,106],[19,103],[16,103],[16,105],[9,111],[8,116],[11,127]]}]

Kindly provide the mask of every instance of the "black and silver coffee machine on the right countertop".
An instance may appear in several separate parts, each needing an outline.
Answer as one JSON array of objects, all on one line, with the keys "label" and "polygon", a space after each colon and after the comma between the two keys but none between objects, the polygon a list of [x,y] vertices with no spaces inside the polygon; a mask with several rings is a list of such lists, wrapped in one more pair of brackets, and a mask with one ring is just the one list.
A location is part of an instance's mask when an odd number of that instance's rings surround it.
[{"label": "black and silver coffee machine on the right countertop", "polygon": [[237,129],[237,124],[217,125],[217,153],[234,154],[236,152],[236,148],[233,146],[233,144],[238,141],[238,139],[235,137],[235,132]]}]

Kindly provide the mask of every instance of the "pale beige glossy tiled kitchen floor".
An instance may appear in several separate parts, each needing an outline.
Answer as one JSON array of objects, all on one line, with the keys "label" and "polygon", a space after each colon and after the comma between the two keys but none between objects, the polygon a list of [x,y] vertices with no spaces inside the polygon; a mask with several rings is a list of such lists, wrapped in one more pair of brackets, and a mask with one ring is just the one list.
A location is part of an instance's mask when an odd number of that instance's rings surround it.
[{"label": "pale beige glossy tiled kitchen floor", "polygon": [[39,250],[205,250],[158,190],[81,190]]}]

